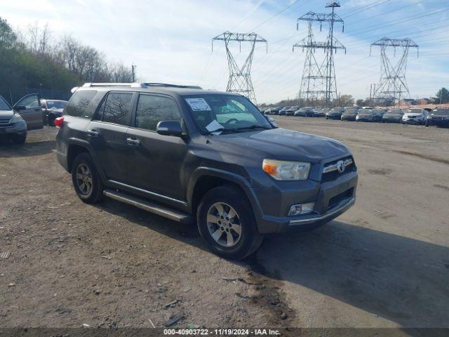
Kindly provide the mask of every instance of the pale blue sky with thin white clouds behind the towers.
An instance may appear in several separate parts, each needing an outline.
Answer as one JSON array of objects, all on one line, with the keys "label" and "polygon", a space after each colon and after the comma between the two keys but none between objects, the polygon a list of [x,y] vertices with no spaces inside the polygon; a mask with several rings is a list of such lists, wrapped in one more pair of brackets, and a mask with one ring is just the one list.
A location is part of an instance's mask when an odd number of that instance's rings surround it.
[{"label": "pale blue sky with thin white clouds behind the towers", "polygon": [[[0,0],[0,16],[21,30],[48,26],[58,41],[71,34],[98,48],[107,60],[137,65],[142,81],[192,84],[225,91],[228,68],[225,45],[213,37],[225,31],[255,32],[268,41],[257,44],[251,77],[257,103],[296,98],[305,53],[293,44],[307,37],[307,23],[297,18],[327,13],[328,0]],[[410,98],[430,97],[449,86],[449,4],[443,0],[341,0],[337,14],[345,27],[335,37],[347,48],[335,55],[337,91],[366,98],[380,79],[380,49],[370,44],[388,37],[413,39],[407,81]],[[326,38],[314,26],[316,40]],[[323,27],[323,31],[326,30]],[[221,42],[221,43],[220,43]],[[243,65],[248,46],[231,46]],[[317,57],[323,57],[316,51]],[[391,50],[392,62],[399,60]]]}]

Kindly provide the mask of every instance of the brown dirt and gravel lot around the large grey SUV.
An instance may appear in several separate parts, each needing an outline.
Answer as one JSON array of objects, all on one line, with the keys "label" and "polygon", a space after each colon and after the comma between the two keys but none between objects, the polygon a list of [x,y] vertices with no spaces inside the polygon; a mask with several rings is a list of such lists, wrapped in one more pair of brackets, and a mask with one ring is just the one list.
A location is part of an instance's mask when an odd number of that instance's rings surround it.
[{"label": "brown dirt and gravel lot around the large grey SUV", "polygon": [[276,119],[349,145],[358,201],[241,263],[195,227],[83,204],[53,128],[0,145],[0,326],[449,326],[449,130]]}]

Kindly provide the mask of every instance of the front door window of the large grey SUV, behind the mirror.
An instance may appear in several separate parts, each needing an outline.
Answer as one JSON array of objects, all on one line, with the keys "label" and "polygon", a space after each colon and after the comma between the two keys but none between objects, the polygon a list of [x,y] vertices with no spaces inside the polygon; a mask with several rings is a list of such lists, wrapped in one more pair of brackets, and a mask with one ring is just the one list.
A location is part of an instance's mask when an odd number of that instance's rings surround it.
[{"label": "front door window of the large grey SUV, behind the mirror", "polygon": [[155,95],[140,95],[135,112],[135,127],[156,131],[159,121],[180,121],[181,114],[174,100]]}]

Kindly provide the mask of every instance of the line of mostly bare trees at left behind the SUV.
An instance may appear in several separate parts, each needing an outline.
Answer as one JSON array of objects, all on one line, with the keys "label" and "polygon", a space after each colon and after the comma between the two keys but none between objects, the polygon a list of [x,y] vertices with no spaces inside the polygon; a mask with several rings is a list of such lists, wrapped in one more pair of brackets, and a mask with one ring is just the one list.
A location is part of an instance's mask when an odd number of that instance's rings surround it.
[{"label": "line of mostly bare trees at left behind the SUV", "polygon": [[57,38],[48,25],[37,23],[19,31],[0,18],[0,95],[11,103],[32,89],[67,95],[84,82],[130,81],[131,67],[108,62],[69,34]]}]

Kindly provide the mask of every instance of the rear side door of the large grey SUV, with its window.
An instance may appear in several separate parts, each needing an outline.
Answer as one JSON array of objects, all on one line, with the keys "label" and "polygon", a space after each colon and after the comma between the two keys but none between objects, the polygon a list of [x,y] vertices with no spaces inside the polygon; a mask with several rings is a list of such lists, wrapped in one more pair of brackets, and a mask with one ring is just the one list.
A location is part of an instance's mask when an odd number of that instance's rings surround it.
[{"label": "rear side door of the large grey SUV, with its window", "polygon": [[86,128],[88,141],[107,179],[119,183],[128,182],[126,133],[135,97],[137,95],[129,91],[107,93]]}]

